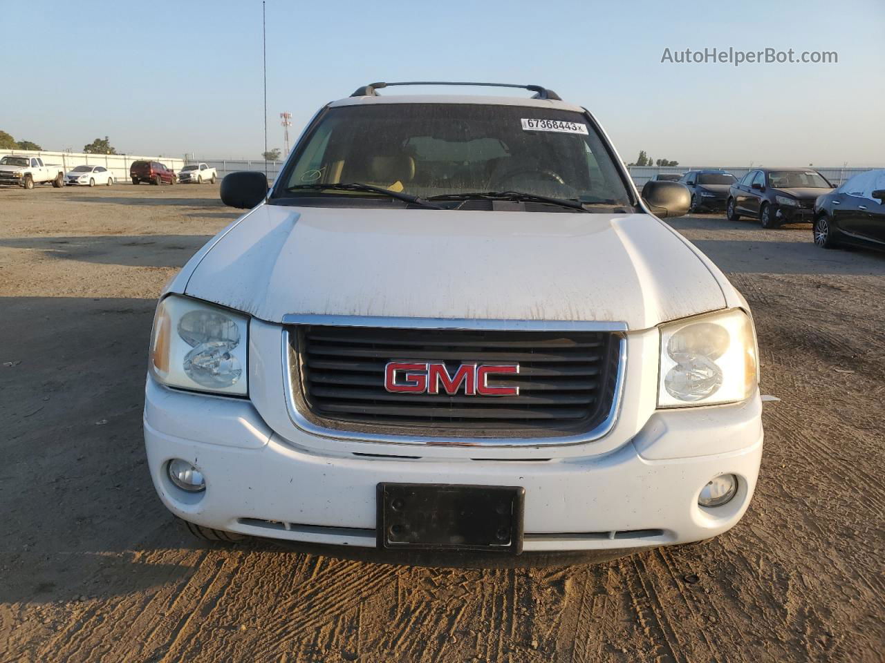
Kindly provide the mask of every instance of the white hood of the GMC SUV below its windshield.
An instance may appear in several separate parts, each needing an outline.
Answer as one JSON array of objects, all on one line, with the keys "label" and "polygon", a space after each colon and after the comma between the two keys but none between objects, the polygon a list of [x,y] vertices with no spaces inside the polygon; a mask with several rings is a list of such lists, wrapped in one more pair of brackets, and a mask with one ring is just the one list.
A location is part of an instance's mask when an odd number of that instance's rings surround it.
[{"label": "white hood of the GMC SUV below its windshield", "polygon": [[276,323],[321,314],[646,329],[727,305],[688,242],[644,214],[262,205],[201,254],[187,294]]}]

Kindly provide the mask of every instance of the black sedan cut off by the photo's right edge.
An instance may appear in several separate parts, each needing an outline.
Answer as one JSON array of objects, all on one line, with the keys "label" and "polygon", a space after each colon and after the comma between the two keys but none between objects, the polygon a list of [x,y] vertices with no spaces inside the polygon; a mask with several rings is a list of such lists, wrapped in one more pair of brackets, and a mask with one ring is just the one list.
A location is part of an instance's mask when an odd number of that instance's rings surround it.
[{"label": "black sedan cut off by the photo's right edge", "polygon": [[814,243],[885,249],[885,168],[861,172],[818,198]]}]

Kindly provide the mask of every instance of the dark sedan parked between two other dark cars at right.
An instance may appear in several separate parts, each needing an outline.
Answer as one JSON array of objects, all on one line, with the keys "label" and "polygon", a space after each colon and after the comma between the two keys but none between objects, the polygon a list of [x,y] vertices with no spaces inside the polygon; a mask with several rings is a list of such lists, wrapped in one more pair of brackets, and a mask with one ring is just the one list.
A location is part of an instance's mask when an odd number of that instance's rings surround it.
[{"label": "dark sedan parked between two other dark cars at right", "polygon": [[728,191],[728,220],[756,217],[763,228],[811,223],[814,201],[832,189],[827,178],[811,168],[757,168]]}]

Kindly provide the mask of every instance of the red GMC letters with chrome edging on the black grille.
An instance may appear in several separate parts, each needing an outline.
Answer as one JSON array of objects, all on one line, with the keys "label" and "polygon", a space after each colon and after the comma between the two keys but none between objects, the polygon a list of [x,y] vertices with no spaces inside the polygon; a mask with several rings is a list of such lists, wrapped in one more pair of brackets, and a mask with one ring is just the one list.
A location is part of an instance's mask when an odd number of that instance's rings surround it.
[{"label": "red GMC letters with chrome edging on the black grille", "polygon": [[516,375],[519,364],[462,363],[453,375],[443,362],[389,362],[384,367],[384,388],[393,393],[448,393],[464,385],[466,396],[519,396],[518,386],[490,386],[489,377]]}]

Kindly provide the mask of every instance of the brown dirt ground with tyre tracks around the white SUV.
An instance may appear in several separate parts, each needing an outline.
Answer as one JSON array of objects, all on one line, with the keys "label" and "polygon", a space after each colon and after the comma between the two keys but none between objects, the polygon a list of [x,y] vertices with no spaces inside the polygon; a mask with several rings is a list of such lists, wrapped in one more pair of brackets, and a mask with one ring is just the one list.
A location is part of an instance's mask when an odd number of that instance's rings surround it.
[{"label": "brown dirt ground with tyre tracks around the white SUV", "polygon": [[218,187],[0,190],[0,660],[885,660],[885,254],[673,225],[750,301],[766,451],[743,521],[596,566],[405,568],[204,545],[154,494],[155,298]]}]

